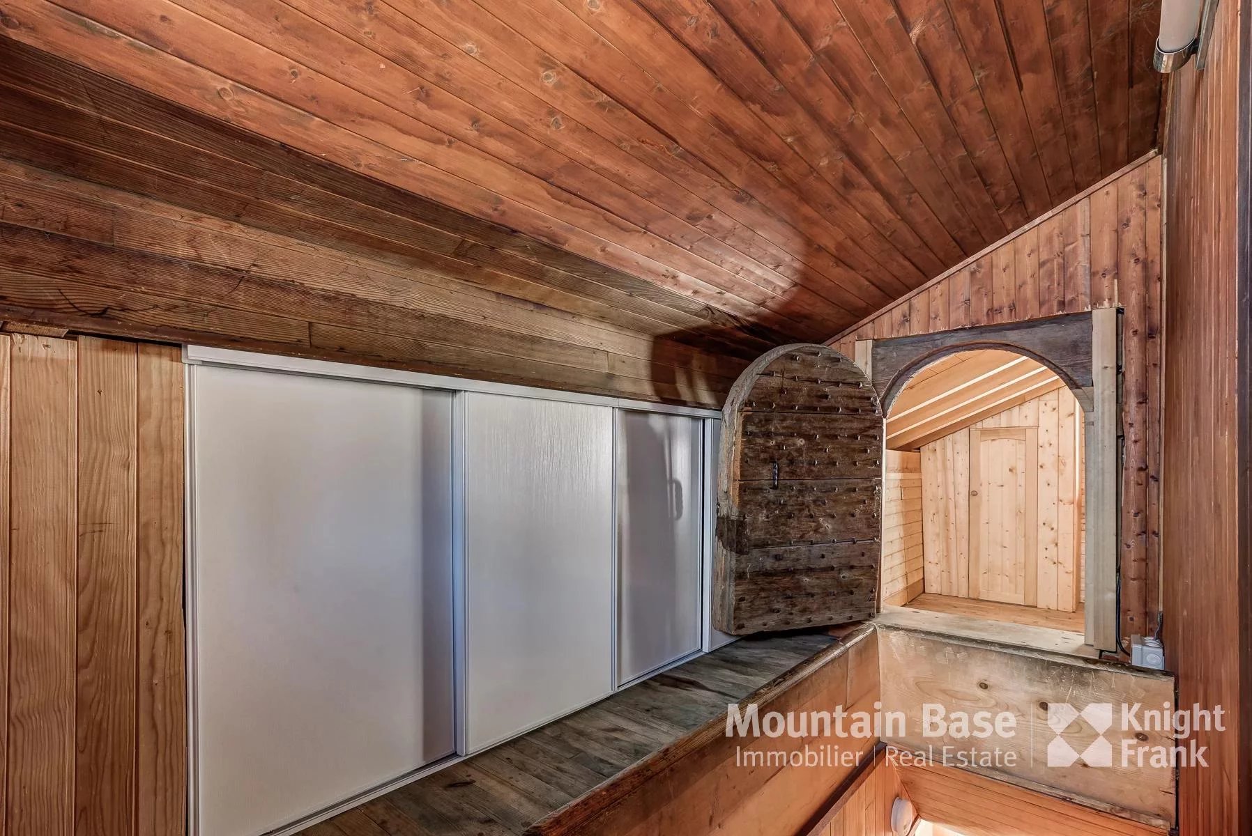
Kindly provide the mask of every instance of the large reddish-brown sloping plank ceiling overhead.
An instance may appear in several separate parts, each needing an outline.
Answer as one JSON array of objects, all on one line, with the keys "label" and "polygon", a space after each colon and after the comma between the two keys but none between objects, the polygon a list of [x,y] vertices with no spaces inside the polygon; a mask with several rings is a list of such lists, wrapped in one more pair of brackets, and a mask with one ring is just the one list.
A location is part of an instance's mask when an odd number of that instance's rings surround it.
[{"label": "large reddish-brown sloping plank ceiling overhead", "polygon": [[11,0],[0,154],[749,353],[1153,148],[1158,3]]}]

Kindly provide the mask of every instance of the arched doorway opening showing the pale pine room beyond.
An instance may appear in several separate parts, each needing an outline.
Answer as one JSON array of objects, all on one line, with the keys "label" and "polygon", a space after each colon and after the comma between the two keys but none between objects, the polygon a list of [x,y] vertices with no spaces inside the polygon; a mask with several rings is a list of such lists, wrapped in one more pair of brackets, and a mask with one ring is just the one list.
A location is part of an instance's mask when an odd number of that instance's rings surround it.
[{"label": "arched doorway opening showing the pale pine room beyond", "polygon": [[1085,394],[1003,347],[906,369],[884,399],[884,606],[1084,632]]}]

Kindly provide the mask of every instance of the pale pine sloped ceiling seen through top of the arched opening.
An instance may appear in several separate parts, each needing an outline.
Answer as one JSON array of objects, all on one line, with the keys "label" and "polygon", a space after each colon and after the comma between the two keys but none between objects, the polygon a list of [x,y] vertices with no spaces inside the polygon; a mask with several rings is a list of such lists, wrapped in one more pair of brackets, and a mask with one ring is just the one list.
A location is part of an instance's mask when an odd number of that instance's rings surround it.
[{"label": "pale pine sloped ceiling seen through top of the arched opening", "polygon": [[1052,369],[1012,352],[952,354],[921,369],[891,403],[886,446],[919,449],[1063,385]]}]

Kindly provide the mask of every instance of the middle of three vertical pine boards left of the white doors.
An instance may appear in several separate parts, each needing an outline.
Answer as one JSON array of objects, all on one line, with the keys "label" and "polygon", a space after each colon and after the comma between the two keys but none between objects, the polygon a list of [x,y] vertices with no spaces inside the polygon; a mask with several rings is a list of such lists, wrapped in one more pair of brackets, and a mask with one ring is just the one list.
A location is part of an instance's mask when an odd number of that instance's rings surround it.
[{"label": "middle of three vertical pine boards left of the white doors", "polygon": [[135,817],[135,344],[78,340],[75,835]]}]

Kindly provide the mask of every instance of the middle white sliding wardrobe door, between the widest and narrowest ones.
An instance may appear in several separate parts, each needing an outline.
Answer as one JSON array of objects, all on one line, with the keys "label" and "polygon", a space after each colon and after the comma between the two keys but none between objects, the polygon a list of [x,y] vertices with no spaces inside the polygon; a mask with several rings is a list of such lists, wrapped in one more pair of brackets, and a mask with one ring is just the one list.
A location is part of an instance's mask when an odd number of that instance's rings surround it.
[{"label": "middle white sliding wardrobe door, between the widest and narrowest ones", "polygon": [[466,700],[477,751],[612,690],[613,410],[466,399]]}]

